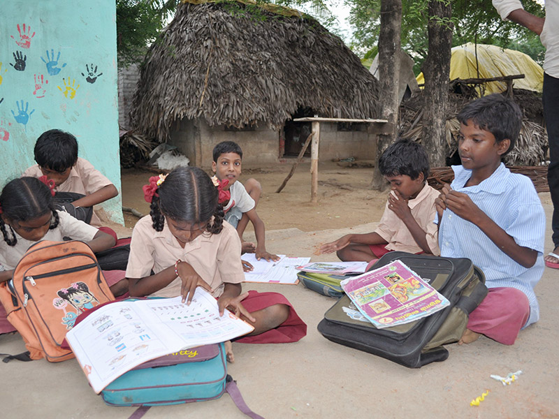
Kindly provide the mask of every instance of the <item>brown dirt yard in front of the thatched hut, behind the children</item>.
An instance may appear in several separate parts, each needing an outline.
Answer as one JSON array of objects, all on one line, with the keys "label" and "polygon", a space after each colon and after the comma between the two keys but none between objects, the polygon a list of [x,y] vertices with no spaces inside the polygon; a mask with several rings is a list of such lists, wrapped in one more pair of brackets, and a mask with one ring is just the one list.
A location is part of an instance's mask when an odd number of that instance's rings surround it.
[{"label": "brown dirt yard in front of the thatched hut, behind the children", "polygon": [[[372,191],[372,168],[345,168],[334,162],[319,164],[319,202],[310,202],[310,163],[303,162],[280,193],[275,193],[291,170],[292,163],[278,163],[266,168],[243,168],[240,181],[250,177],[258,180],[263,194],[256,211],[266,230],[298,228],[316,231],[347,228],[379,221],[384,212],[388,190]],[[142,186],[153,172],[122,169],[122,205],[149,214]],[[124,213],[126,227],[133,227],[137,218]],[[249,223],[247,232],[252,230]]]}]

